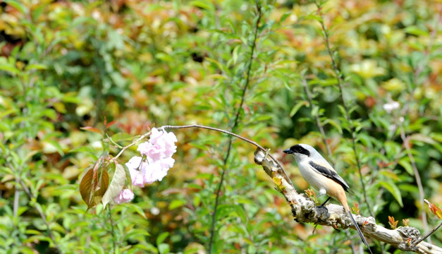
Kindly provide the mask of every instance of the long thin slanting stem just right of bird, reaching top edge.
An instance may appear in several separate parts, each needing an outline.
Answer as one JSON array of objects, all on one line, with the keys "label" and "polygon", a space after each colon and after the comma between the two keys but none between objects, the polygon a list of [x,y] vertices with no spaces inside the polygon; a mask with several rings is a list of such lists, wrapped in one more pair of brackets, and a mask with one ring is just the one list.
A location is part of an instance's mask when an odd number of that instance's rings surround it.
[{"label": "long thin slanting stem just right of bird, reaching top edge", "polygon": [[339,68],[338,68],[338,64],[336,63],[335,57],[333,56],[333,51],[330,48],[330,40],[329,40],[329,32],[326,28],[326,25],[324,24],[324,20],[322,20],[322,13],[320,12],[321,6],[319,6],[319,4],[317,2],[315,2],[315,4],[317,5],[318,11],[320,13],[321,16],[321,20],[319,21],[319,23],[321,23],[321,28],[322,28],[322,35],[324,37],[324,41],[326,44],[326,49],[327,52],[329,53],[330,59],[331,59],[331,66],[333,67],[333,72],[336,75],[336,81],[338,82],[338,87],[339,87],[339,92],[340,92],[340,99],[343,102],[343,107],[345,109],[345,119],[347,119],[349,125],[350,125],[350,133],[352,135],[352,147],[353,147],[353,152],[355,153],[355,159],[356,159],[356,164],[357,164],[357,171],[359,172],[359,176],[360,176],[360,182],[361,182],[361,186],[362,186],[362,193],[364,194],[364,200],[365,203],[367,204],[367,209],[369,210],[369,213],[372,217],[374,217],[374,213],[372,211],[372,207],[369,205],[368,202],[368,198],[367,198],[367,191],[365,188],[365,183],[364,183],[364,179],[362,176],[362,167],[361,167],[361,162],[359,159],[359,156],[357,155],[357,146],[356,146],[356,134],[355,134],[355,128],[353,126],[352,123],[352,119],[350,118],[350,113],[349,113],[349,109],[348,109],[348,105],[347,102],[345,102],[345,98],[344,98],[344,88],[343,88],[343,83],[341,82],[341,79],[343,79],[343,75],[340,72]]}]

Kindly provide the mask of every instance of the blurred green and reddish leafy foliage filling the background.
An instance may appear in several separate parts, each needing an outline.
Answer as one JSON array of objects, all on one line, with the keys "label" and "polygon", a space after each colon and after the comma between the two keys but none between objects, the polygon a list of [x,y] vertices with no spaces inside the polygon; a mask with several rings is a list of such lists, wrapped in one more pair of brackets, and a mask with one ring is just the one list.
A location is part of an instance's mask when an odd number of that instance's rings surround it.
[{"label": "blurred green and reddish leafy foliage filling the background", "polygon": [[[2,1],[1,252],[204,253],[222,175],[213,253],[359,244],[353,231],[312,235],[253,163],[254,147],[233,140],[227,155],[226,135],[199,129],[173,131],[166,179],[133,188],[135,200],[111,212],[85,213],[80,174],[119,150],[80,127],[104,129],[105,118],[120,145],[154,125],[233,131],[271,148],[300,190],[307,183],[282,150],[315,145],[361,214],[386,226],[388,215],[408,218],[423,234],[440,220],[422,195],[442,205],[440,13],[430,0]],[[400,107],[383,109],[392,101]],[[431,240],[442,246],[441,231]]]}]

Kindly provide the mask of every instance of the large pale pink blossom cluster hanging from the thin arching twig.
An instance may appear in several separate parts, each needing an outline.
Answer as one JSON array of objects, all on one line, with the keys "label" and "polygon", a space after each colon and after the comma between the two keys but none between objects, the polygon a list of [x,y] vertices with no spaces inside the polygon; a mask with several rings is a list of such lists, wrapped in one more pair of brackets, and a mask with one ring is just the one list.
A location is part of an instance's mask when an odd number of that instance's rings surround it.
[{"label": "large pale pink blossom cluster hanging from the thin arching twig", "polygon": [[175,162],[172,155],[176,152],[177,141],[175,134],[152,128],[149,141],[138,145],[137,151],[142,157],[134,156],[125,164],[132,185],[144,187],[145,184],[163,180]]}]

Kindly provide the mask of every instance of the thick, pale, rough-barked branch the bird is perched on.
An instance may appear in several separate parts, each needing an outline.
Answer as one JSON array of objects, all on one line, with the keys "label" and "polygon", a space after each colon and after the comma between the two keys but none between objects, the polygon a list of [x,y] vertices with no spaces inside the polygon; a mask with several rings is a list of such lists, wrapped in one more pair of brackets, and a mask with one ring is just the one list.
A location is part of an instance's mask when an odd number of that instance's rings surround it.
[{"label": "thick, pale, rough-barked branch the bird is perched on", "polygon": [[[278,190],[292,208],[293,217],[298,222],[355,229],[342,206],[329,204],[327,207],[317,207],[314,201],[306,198],[305,195],[298,194],[291,181],[287,179],[284,169],[275,159],[267,157],[262,150],[257,149],[254,152],[254,162],[262,166],[266,174],[276,183]],[[400,226],[398,229],[392,230],[376,224],[374,217],[362,217],[359,214],[353,215],[353,217],[365,236],[391,244],[403,251],[422,254],[442,253],[442,248],[438,246],[424,241],[419,242],[420,232],[412,226]]]}]

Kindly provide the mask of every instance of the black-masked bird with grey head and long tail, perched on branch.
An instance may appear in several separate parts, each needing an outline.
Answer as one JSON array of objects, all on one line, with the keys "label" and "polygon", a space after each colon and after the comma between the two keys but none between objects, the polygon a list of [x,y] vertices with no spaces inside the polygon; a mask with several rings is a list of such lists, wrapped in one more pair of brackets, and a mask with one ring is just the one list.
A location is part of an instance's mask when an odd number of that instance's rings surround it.
[{"label": "black-masked bird with grey head and long tail, perched on branch", "polygon": [[345,195],[345,192],[350,193],[350,186],[348,186],[348,183],[338,175],[329,162],[327,162],[327,160],[324,159],[324,157],[322,157],[322,155],[311,145],[293,145],[283,152],[288,155],[295,155],[296,163],[300,169],[302,177],[310,186],[319,191],[318,197],[321,195],[329,195],[329,198],[327,198],[321,206],[324,206],[330,198],[334,198],[340,202],[344,207],[345,212],[348,212],[350,215],[357,233],[360,235],[365,246],[367,246],[369,253],[373,254],[364,234],[362,234],[360,227],[355,222],[352,212],[350,212],[350,207],[348,207],[347,195]]}]

